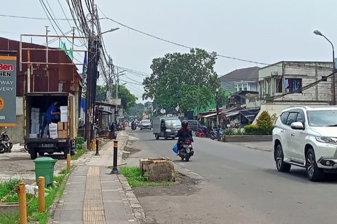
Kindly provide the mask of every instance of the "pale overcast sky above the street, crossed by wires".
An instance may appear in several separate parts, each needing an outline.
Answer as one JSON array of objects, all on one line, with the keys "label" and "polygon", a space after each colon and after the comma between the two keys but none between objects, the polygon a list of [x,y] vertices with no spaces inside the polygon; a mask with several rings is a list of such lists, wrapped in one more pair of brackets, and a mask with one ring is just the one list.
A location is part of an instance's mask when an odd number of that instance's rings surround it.
[{"label": "pale overcast sky above the street, crossed by wires", "polygon": [[[49,0],[55,17],[65,18],[58,1],[71,18],[66,0]],[[47,4],[47,0],[44,2]],[[314,30],[320,30],[332,43],[337,43],[336,0],[95,0],[95,3],[111,19],[154,36],[261,63],[331,61],[331,45],[322,36],[314,35]],[[84,1],[83,4],[85,7]],[[1,1],[1,9],[0,14],[46,18],[39,0]],[[103,17],[102,12],[98,11],[100,17]],[[50,25],[47,20],[4,16],[0,16],[0,21],[0,36],[14,40],[19,40],[19,34],[44,34],[45,25]],[[66,21],[59,23],[63,32],[71,30]],[[113,63],[121,67],[151,73],[149,67],[153,58],[168,52],[188,52],[184,47],[145,36],[106,19],[101,20],[101,25],[102,31],[120,27],[104,37]],[[51,25],[50,30],[50,34],[56,34]],[[33,42],[42,44],[45,41],[33,38]],[[83,60],[78,54],[74,56]],[[218,58],[215,71],[222,76],[252,66],[263,67]],[[136,96],[141,96],[142,86],[135,85],[142,82],[141,75],[127,73],[126,76],[121,78],[122,82],[127,82]]]}]

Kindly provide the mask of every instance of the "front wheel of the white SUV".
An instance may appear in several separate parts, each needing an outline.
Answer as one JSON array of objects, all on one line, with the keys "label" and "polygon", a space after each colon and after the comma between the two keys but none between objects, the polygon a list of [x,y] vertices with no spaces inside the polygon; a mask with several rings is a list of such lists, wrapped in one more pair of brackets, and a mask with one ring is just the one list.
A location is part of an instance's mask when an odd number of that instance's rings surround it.
[{"label": "front wheel of the white SUV", "polygon": [[324,172],[317,166],[315,152],[313,148],[309,148],[309,150],[307,150],[305,160],[305,170],[307,170],[307,177],[309,178],[309,180],[320,181],[324,177]]}]

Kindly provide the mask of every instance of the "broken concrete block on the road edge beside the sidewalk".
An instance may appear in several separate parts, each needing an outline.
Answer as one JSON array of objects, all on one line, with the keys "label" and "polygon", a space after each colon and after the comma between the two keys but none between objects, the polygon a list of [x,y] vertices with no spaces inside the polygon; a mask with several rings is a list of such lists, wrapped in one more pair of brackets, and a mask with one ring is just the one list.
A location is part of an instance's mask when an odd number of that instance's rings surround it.
[{"label": "broken concrete block on the road edge beside the sidewalk", "polygon": [[149,181],[174,181],[174,164],[167,157],[140,159],[140,170],[149,177]]}]

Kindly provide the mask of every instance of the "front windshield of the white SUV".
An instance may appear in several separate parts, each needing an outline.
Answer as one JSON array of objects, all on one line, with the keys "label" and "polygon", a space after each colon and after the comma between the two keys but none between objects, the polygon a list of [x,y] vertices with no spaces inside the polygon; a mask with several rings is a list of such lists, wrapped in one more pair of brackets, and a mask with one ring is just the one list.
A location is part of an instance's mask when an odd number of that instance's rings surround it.
[{"label": "front windshield of the white SUV", "polygon": [[337,126],[337,110],[307,111],[310,126]]}]

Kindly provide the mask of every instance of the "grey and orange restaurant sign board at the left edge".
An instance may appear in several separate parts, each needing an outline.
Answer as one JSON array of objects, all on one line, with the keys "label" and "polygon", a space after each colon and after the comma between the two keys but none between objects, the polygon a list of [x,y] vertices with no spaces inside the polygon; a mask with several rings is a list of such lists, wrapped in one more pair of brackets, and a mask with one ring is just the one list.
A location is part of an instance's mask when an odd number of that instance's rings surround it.
[{"label": "grey and orange restaurant sign board at the left edge", "polygon": [[15,126],[17,56],[0,56],[0,126]]}]

